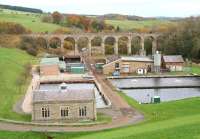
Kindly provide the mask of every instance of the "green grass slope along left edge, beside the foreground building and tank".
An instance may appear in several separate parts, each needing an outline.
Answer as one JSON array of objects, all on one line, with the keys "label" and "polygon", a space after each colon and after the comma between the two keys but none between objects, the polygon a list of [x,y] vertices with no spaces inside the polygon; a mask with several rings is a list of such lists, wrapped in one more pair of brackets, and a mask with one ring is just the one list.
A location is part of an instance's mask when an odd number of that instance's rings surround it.
[{"label": "green grass slope along left edge, beside the foreground building and tank", "polygon": [[29,120],[30,116],[13,112],[13,105],[21,99],[27,85],[19,86],[20,73],[33,57],[18,49],[0,48],[0,118]]}]

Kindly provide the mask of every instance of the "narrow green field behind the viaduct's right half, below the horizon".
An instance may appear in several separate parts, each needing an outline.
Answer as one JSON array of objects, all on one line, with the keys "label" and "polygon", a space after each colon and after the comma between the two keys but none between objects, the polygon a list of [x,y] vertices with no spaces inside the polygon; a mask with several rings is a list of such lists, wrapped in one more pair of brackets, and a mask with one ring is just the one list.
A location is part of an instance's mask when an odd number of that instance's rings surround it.
[{"label": "narrow green field behind the viaduct's right half, below the horizon", "polygon": [[106,23],[115,27],[119,26],[122,30],[139,29],[144,27],[154,27],[158,25],[169,25],[174,22],[166,20],[144,20],[144,21],[130,21],[130,20],[106,20]]}]

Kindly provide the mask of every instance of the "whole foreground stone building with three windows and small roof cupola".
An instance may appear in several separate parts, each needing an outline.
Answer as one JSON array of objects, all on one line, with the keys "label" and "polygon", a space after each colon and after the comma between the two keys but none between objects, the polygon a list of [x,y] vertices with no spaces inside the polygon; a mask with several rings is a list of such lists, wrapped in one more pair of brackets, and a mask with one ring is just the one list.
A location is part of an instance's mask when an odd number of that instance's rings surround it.
[{"label": "whole foreground stone building with three windows and small roof cupola", "polygon": [[96,103],[93,89],[68,89],[33,92],[33,122],[77,122],[96,120]]}]

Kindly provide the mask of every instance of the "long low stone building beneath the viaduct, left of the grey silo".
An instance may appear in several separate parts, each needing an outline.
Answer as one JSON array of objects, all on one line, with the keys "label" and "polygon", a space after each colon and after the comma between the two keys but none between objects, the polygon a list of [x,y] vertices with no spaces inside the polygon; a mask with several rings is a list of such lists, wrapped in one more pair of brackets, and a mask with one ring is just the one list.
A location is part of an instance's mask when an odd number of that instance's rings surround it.
[{"label": "long low stone building beneath the viaduct, left of the grey silo", "polygon": [[146,56],[114,56],[106,60],[103,66],[104,74],[112,74],[118,71],[121,74],[137,73],[138,71],[150,71],[153,60]]}]

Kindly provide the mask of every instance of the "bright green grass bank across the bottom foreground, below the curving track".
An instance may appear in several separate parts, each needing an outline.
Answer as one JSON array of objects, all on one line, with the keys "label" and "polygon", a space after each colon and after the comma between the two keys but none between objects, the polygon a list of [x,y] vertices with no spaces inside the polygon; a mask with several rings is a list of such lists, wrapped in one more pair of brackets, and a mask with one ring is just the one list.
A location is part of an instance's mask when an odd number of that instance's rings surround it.
[{"label": "bright green grass bank across the bottom foreground, below the curving track", "polygon": [[161,104],[139,105],[123,93],[120,95],[134,108],[144,113],[140,124],[99,132],[36,133],[0,132],[8,139],[198,139],[200,137],[200,98],[185,99]]}]

